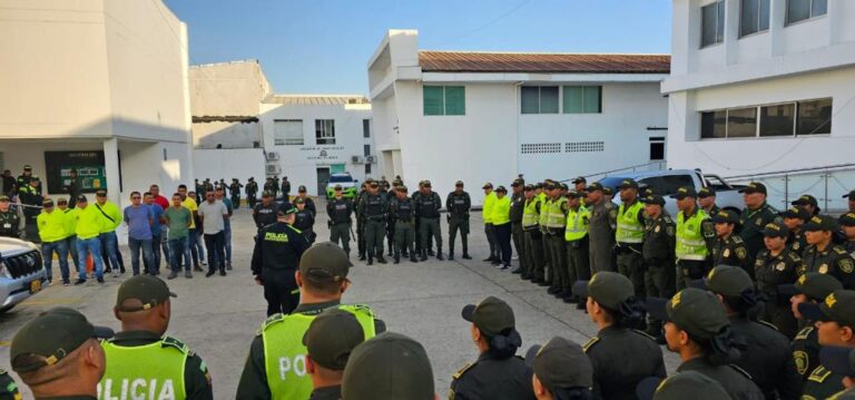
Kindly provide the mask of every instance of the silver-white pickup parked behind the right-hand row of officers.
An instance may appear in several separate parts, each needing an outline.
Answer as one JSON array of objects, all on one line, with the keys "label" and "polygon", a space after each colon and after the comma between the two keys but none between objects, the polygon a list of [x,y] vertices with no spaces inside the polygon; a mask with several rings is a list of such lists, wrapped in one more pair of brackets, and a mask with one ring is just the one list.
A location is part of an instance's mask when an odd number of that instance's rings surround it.
[{"label": "silver-white pickup parked behind the right-hand row of officers", "polygon": [[677,203],[669,196],[677,193],[677,189],[682,186],[695,187],[696,192],[702,187],[714,188],[716,191],[716,204],[725,209],[739,213],[745,206],[743,195],[738,192],[745,185],[730,185],[718,175],[705,175],[700,169],[668,169],[609,175],[600,179],[600,183],[603,186],[616,188],[612,199],[616,204],[620,204],[617,187],[621,181],[627,178],[636,179],[640,187],[652,187],[653,193],[665,197],[665,208],[671,216],[677,216]]}]

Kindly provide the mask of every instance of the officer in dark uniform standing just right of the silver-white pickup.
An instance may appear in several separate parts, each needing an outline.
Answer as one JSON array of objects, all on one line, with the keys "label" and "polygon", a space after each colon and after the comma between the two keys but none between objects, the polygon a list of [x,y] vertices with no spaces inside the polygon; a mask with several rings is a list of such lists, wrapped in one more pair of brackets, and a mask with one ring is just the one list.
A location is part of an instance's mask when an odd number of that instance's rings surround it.
[{"label": "officer in dark uniform standing just right of the silver-white pickup", "polygon": [[745,209],[739,216],[739,237],[745,242],[748,258],[757,257],[757,252],[764,248],[763,228],[770,222],[782,222],[778,211],[766,203],[766,185],[751,182],[744,189]]}]

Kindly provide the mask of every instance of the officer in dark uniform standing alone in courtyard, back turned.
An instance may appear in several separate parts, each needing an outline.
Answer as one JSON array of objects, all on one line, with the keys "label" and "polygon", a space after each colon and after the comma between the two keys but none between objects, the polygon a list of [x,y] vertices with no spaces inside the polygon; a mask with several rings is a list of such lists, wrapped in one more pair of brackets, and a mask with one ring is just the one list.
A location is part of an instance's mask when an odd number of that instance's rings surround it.
[{"label": "officer in dark uniform standing alone in courtyard, back turned", "polygon": [[299,291],[294,272],[309,243],[294,227],[297,208],[278,213],[277,221],[258,231],[253,251],[252,271],[255,282],[264,286],[267,316],[289,313],[297,306]]}]

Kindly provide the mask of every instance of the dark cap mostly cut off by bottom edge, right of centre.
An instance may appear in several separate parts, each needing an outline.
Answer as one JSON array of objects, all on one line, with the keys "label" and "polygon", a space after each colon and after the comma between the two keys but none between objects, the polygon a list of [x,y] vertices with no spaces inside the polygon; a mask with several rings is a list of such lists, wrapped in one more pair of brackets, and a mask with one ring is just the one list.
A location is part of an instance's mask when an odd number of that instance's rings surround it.
[{"label": "dark cap mostly cut off by bottom edge, right of centre", "polygon": [[697,372],[684,371],[666,379],[650,377],[636,387],[639,400],[730,400],[720,383]]}]

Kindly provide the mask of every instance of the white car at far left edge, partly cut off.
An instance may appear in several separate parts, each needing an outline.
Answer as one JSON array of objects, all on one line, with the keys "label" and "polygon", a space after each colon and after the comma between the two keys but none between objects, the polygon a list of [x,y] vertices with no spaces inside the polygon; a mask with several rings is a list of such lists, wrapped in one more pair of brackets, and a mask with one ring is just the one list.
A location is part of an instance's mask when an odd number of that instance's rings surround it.
[{"label": "white car at far left edge, partly cut off", "polygon": [[47,281],[42,265],[35,244],[0,237],[0,313],[41,291]]}]

